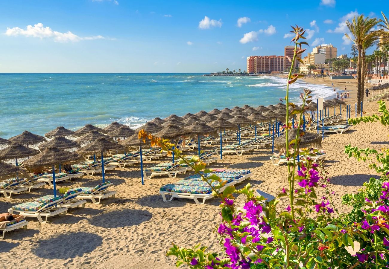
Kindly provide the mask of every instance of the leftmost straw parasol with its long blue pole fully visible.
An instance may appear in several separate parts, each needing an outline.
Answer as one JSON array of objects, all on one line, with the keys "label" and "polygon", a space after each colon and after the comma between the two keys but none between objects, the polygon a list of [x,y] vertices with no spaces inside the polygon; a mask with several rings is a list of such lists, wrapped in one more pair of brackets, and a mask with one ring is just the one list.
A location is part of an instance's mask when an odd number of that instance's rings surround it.
[{"label": "leftmost straw parasol with its long blue pole fully visible", "polygon": [[27,168],[42,168],[51,166],[53,170],[53,189],[54,197],[57,197],[57,190],[55,187],[55,166],[77,163],[82,160],[82,156],[75,152],[68,152],[56,147],[45,148],[42,152],[35,155],[31,159],[24,162]]}]

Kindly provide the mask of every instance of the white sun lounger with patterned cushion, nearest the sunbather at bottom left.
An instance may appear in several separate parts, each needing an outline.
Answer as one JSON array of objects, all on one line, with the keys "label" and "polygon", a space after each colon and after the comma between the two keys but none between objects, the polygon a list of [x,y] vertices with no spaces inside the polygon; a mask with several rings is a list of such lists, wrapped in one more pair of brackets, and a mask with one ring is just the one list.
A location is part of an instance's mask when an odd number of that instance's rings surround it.
[{"label": "white sun lounger with patterned cushion, nearest the sunbather at bottom left", "polygon": [[[10,214],[20,214],[25,217],[35,217],[38,218],[40,223],[47,223],[48,217],[53,217],[59,214],[65,215],[67,208],[63,208],[58,206],[58,203],[61,203],[63,198],[61,196],[57,196],[56,198],[49,199],[44,203],[38,202],[29,202],[17,204],[16,206],[12,206],[8,210]],[[42,219],[45,218],[45,220]]]}]

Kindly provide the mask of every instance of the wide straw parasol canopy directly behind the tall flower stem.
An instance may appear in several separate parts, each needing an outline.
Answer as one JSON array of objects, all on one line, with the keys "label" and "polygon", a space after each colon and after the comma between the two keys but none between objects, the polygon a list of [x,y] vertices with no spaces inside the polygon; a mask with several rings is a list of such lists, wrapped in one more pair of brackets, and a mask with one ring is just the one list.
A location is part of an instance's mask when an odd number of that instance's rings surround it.
[{"label": "wide straw parasol canopy directly behind the tall flower stem", "polygon": [[[319,134],[317,133],[312,133],[312,132],[303,132],[304,135],[300,136],[300,143],[299,143],[299,147],[308,147],[308,146],[312,146],[312,147],[318,147],[318,148],[321,148],[321,141],[322,141],[322,138]],[[301,134],[301,131],[300,131],[300,134]],[[297,129],[291,129],[288,131],[288,140],[289,141],[292,141],[294,139],[296,139],[296,135],[297,135]],[[286,140],[285,140],[285,136],[279,136],[278,138],[276,138],[274,140],[274,143],[275,143],[275,146],[277,147],[278,150],[280,150],[281,148],[286,148]],[[294,146],[293,144],[289,144],[290,146]]]}]

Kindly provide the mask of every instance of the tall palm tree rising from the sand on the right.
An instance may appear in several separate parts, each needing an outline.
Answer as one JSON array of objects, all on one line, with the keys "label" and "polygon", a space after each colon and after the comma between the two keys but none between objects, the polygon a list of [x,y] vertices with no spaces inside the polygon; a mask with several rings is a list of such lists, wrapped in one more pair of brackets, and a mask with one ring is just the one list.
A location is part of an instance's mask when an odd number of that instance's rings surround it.
[{"label": "tall palm tree rising from the sand on the right", "polygon": [[[361,96],[363,94],[362,86],[362,53],[365,45],[368,45],[369,40],[373,37],[377,37],[377,31],[372,31],[373,28],[378,24],[377,18],[364,17],[359,15],[354,16],[352,21],[346,21],[347,28],[349,28],[350,35],[345,33],[345,37],[354,42],[358,49],[358,64],[357,64],[357,110],[361,112]],[[377,40],[377,39],[376,39]]]}]

